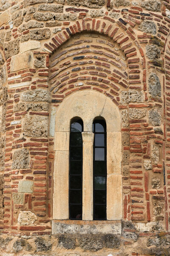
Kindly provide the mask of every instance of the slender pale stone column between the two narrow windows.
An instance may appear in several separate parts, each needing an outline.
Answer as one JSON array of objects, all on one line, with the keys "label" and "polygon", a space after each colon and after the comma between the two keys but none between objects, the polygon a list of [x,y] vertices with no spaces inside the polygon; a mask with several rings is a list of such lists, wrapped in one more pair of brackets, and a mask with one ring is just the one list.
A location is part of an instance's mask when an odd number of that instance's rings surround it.
[{"label": "slender pale stone column between the two narrow windows", "polygon": [[82,220],[93,220],[93,142],[94,133],[82,132]]}]

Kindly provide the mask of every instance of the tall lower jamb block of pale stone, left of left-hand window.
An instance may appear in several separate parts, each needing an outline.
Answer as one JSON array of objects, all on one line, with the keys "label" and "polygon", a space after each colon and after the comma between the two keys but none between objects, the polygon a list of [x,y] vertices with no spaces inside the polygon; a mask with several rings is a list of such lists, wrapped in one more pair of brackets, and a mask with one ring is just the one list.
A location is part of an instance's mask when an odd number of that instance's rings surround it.
[{"label": "tall lower jamb block of pale stone, left of left-hand window", "polygon": [[54,166],[53,218],[68,219],[69,151],[56,151]]}]

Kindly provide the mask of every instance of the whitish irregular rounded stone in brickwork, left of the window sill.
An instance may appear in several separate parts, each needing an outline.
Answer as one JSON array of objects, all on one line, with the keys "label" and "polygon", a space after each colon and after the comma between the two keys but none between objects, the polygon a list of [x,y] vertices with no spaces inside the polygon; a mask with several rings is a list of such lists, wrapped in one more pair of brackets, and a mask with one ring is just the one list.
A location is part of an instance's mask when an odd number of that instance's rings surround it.
[{"label": "whitish irregular rounded stone in brickwork, left of the window sill", "polygon": [[30,211],[21,211],[18,215],[18,223],[23,225],[33,224],[37,220],[37,216]]}]

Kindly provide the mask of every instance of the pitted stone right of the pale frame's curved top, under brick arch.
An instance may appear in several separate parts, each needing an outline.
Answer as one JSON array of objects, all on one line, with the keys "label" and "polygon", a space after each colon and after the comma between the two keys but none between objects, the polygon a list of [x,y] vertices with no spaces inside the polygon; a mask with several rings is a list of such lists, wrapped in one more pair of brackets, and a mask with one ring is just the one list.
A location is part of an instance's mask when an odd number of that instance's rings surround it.
[{"label": "pitted stone right of the pale frame's curved top, under brick arch", "polygon": [[129,102],[144,102],[144,95],[142,91],[128,90],[122,91],[121,104]]}]

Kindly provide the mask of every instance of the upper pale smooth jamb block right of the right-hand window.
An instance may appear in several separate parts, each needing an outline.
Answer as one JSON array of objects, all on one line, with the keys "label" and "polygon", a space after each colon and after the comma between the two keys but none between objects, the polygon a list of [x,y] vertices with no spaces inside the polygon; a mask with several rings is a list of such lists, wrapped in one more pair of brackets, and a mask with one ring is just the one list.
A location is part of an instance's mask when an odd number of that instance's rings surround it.
[{"label": "upper pale smooth jamb block right of the right-hand window", "polygon": [[121,132],[107,133],[107,173],[121,174],[122,161]]}]

